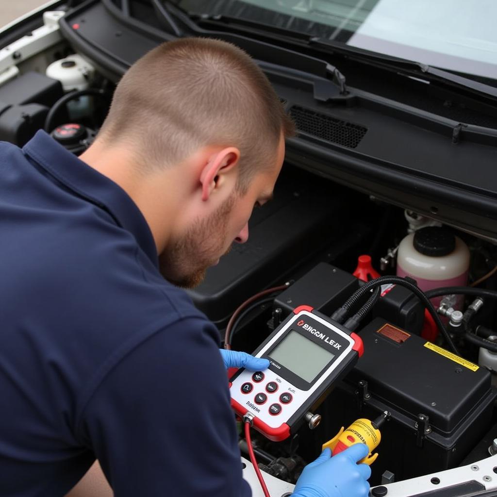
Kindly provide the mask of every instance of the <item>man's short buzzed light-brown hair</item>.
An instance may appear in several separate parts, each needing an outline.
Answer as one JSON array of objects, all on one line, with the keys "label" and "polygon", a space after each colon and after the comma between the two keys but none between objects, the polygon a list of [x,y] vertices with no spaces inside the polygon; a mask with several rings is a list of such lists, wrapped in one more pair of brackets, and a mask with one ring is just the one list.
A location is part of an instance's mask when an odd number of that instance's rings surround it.
[{"label": "man's short buzzed light-brown hair", "polygon": [[272,166],[293,122],[271,84],[240,48],[182,38],[139,59],[116,87],[103,140],[130,141],[144,166],[173,165],[206,145],[240,149],[238,187]]}]

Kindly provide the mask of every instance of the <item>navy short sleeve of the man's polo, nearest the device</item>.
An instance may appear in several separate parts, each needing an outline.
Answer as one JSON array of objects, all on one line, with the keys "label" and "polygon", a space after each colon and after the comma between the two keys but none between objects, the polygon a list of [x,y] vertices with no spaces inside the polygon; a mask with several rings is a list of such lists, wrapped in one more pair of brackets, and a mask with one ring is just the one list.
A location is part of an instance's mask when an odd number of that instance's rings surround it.
[{"label": "navy short sleeve of the man's polo, nearest the device", "polygon": [[115,497],[251,495],[226,370],[213,325],[200,318],[122,358],[91,396],[81,428]]}]

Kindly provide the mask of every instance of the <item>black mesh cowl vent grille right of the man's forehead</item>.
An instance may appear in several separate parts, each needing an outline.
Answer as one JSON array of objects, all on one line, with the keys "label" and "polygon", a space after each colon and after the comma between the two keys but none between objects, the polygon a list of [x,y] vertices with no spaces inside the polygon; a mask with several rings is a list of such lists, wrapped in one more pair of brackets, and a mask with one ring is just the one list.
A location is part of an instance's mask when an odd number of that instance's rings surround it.
[{"label": "black mesh cowl vent grille right of the man's forehead", "polygon": [[355,149],[368,130],[364,126],[293,105],[290,115],[297,129],[327,142]]}]

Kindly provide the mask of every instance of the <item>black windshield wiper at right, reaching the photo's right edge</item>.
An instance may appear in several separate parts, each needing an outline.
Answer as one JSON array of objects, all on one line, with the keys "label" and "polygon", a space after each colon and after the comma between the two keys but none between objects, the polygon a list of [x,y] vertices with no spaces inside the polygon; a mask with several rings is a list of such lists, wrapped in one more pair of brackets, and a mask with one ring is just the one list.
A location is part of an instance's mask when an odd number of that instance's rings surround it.
[{"label": "black windshield wiper at right, reaching the photo's right edge", "polygon": [[388,66],[390,68],[405,69],[406,71],[412,71],[414,73],[417,73],[418,75],[419,73],[421,73],[420,76],[427,75],[427,80],[435,80],[438,82],[447,83],[449,86],[469,90],[473,93],[478,93],[486,97],[490,96],[494,99],[497,99],[496,87],[491,86],[490,84],[480,83],[470,78],[458,76],[457,74],[451,73],[450,71],[437,69],[427,64],[422,64],[420,62],[414,62],[407,59],[401,59],[399,57],[390,55],[380,54],[378,52],[371,52],[369,50],[364,50],[361,48],[350,47],[343,43],[337,43],[326,38],[310,38],[309,44],[332,48],[336,52],[341,52],[347,55],[355,55],[360,59],[367,59],[372,62],[376,61],[377,63]]}]

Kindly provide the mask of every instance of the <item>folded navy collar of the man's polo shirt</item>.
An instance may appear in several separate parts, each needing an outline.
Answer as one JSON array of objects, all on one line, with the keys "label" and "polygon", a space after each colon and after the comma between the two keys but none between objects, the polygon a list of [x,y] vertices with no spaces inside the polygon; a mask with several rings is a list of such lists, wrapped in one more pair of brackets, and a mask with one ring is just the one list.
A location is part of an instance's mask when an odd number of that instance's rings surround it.
[{"label": "folded navy collar of the man's polo shirt", "polygon": [[118,184],[78,159],[42,130],[22,150],[69,189],[105,209],[118,226],[136,238],[158,267],[157,248],[149,225],[138,206]]}]

